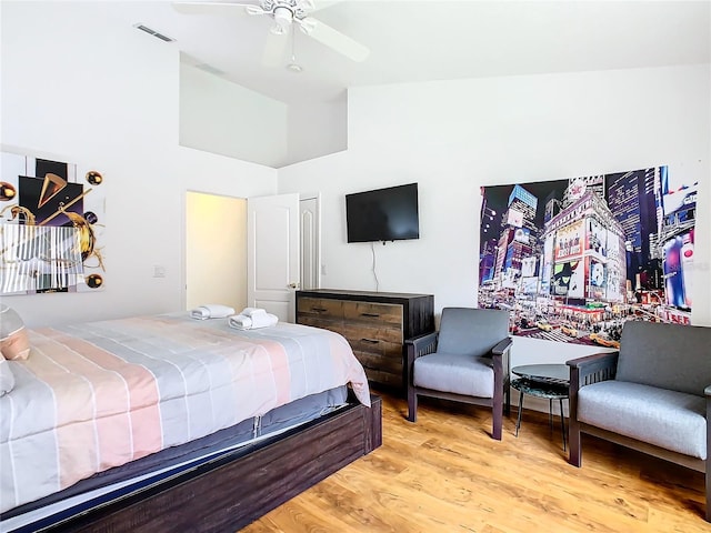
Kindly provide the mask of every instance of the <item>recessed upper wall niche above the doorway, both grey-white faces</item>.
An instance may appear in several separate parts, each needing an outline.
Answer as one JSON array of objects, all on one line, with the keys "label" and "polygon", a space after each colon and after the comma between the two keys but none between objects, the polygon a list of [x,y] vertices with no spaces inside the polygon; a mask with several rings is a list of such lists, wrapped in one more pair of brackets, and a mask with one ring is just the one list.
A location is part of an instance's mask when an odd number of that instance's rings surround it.
[{"label": "recessed upper wall niche above the doorway, both grey-white faces", "polygon": [[287,104],[193,63],[181,58],[181,145],[273,168],[348,148],[346,93],[331,102]]}]

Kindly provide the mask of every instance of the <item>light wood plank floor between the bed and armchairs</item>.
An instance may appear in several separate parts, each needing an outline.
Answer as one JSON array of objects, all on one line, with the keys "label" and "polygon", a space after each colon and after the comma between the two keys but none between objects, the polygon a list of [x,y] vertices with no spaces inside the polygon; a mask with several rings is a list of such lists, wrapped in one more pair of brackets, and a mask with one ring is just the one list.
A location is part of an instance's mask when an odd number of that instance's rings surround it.
[{"label": "light wood plank floor between the bed and armchairs", "polygon": [[565,462],[560,422],[515,409],[493,441],[484,408],[385,393],[383,445],[242,530],[260,532],[711,532],[701,473],[583,436]]}]

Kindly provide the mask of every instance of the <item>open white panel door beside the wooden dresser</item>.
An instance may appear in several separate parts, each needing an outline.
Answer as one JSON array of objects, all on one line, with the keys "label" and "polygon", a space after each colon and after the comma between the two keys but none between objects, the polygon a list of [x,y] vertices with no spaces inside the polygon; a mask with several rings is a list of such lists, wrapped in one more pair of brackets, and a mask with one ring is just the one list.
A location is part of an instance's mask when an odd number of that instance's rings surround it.
[{"label": "open white panel door beside the wooden dresser", "polygon": [[247,302],[294,322],[299,286],[299,194],[247,200]]}]

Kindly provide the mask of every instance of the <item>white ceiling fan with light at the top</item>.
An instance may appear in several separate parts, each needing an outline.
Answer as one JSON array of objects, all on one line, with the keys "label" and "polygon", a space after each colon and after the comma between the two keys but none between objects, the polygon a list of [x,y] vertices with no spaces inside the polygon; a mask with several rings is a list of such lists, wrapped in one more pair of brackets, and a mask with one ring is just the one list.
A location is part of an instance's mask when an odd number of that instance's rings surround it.
[{"label": "white ceiling fan with light at the top", "polygon": [[278,66],[281,62],[287,47],[286,37],[294,26],[321,44],[353,61],[364,61],[370,53],[370,50],[360,42],[311,17],[310,13],[318,9],[313,0],[256,0],[252,3],[178,1],[173,2],[173,8],[186,14],[266,14],[270,17],[274,23],[269,32],[262,58],[262,62],[267,66]]}]

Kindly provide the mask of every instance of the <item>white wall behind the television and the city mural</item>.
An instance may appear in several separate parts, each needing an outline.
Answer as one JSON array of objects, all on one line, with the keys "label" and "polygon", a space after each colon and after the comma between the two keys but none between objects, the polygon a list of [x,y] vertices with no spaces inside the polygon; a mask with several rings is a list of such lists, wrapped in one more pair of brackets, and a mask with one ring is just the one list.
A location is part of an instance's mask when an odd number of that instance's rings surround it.
[{"label": "white wall behind the television and the city mural", "polygon": [[[418,182],[420,239],[375,244],[381,291],[475,305],[482,185],[669,165],[700,182],[697,279],[711,258],[709,64],[351,89],[349,150],[282,169],[279,191],[319,191],[322,286],[375,290],[370,244],[346,242],[344,194]],[[711,325],[694,282],[692,321]],[[594,350],[594,349],[593,349]],[[513,363],[590,346],[517,338]]]}]

